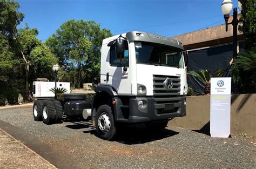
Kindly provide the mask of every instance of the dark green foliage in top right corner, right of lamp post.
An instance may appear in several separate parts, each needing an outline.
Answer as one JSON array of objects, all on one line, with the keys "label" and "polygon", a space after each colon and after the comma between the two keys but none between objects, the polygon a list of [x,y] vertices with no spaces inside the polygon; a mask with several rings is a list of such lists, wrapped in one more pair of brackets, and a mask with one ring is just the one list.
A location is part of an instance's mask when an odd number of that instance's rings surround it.
[{"label": "dark green foliage in top right corner, right of lamp post", "polygon": [[242,4],[240,17],[240,31],[245,36],[245,49],[250,50],[255,46],[256,42],[256,1],[255,0],[239,0]]}]

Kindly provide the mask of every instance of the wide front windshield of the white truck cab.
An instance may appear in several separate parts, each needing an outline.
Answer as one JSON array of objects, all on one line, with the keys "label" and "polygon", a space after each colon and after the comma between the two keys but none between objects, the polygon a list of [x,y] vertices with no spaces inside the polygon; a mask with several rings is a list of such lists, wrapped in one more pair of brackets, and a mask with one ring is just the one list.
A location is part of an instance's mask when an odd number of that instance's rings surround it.
[{"label": "wide front windshield of the white truck cab", "polygon": [[135,42],[136,60],[139,64],[183,68],[181,50],[172,46]]}]

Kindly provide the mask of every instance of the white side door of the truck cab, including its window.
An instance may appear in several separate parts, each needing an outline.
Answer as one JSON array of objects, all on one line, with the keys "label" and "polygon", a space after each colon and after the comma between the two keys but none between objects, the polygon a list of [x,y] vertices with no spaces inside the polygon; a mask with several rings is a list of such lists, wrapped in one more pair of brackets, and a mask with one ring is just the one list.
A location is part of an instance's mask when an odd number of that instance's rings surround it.
[{"label": "white side door of the truck cab, including its window", "polygon": [[109,80],[106,84],[111,85],[119,95],[130,95],[131,94],[131,77],[129,76],[129,47],[127,40],[125,40],[125,51],[122,62],[124,63],[127,70],[125,71],[124,66],[120,62],[120,59],[116,57],[116,45],[110,46],[110,57],[109,62],[106,65],[106,73],[108,73]]}]

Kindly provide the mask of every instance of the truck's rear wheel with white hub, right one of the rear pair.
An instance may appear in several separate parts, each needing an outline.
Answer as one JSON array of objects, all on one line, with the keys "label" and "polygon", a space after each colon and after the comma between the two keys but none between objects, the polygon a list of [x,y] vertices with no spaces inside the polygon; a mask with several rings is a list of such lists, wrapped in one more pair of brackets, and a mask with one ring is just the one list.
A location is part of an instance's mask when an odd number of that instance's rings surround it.
[{"label": "truck's rear wheel with white hub, right one of the rear pair", "polygon": [[53,124],[55,122],[55,106],[52,101],[44,100],[43,102],[43,122],[45,124]]}]

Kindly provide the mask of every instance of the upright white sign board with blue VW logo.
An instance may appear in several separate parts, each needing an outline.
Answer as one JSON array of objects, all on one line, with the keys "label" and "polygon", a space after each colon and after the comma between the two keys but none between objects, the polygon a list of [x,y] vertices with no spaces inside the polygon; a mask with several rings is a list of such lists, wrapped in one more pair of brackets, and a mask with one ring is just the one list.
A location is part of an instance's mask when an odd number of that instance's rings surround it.
[{"label": "upright white sign board with blue VW logo", "polygon": [[211,137],[230,136],[231,78],[211,78]]}]

